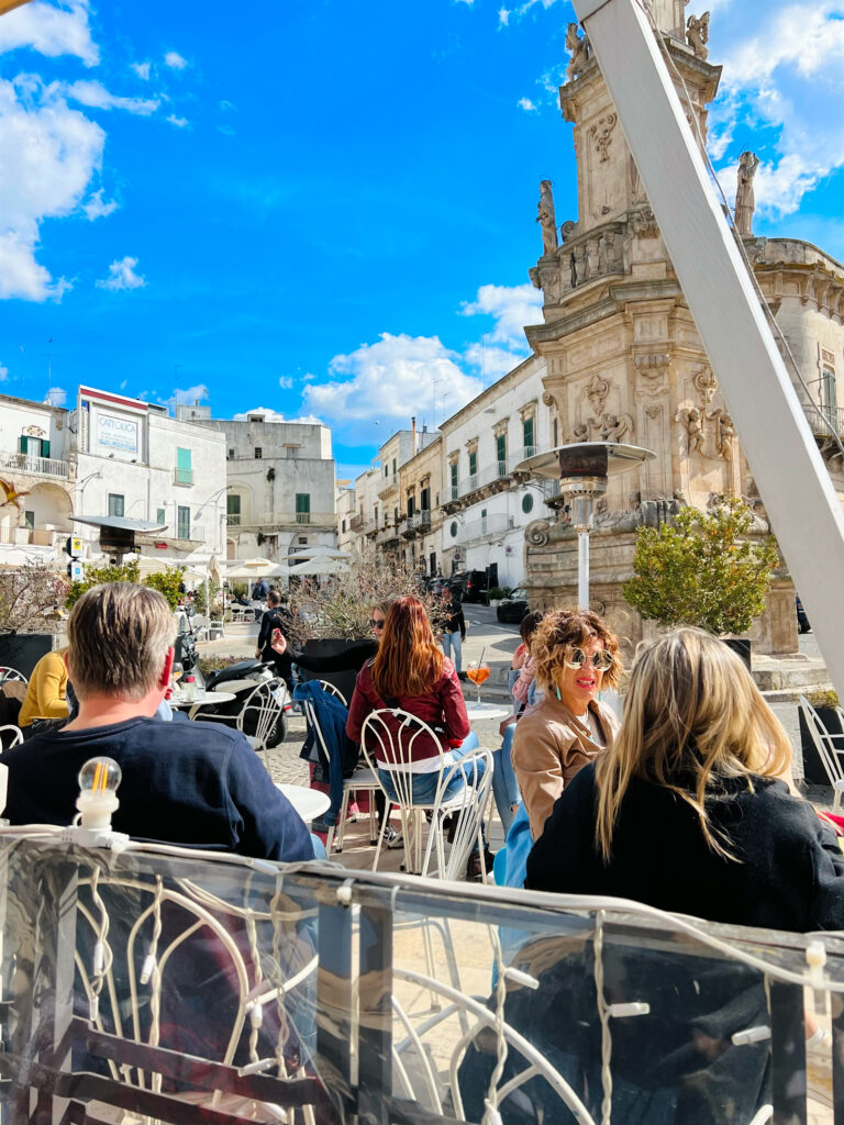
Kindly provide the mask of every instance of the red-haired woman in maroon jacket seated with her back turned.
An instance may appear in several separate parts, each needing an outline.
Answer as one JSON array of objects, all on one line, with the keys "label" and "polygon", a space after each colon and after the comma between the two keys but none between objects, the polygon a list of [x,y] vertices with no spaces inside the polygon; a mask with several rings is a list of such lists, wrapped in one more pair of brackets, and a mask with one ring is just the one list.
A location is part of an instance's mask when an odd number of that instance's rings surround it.
[{"label": "red-haired woman in maroon jacket seated with her back turned", "polygon": [[[358,674],[345,723],[347,735],[360,741],[368,714],[394,709],[410,712],[433,731],[432,737],[420,735],[412,744],[411,792],[414,803],[427,804],[433,801],[440,781],[440,752],[448,764],[459,762],[477,746],[477,736],[469,730],[466,701],[455,666],[437,647],[428,613],[417,597],[398,597],[389,608],[378,654]],[[386,721],[398,738],[401,721],[392,716]],[[379,760],[389,753],[386,746],[367,744],[367,749],[376,755],[378,766],[388,765]],[[472,784],[476,767],[481,774],[483,763],[476,763],[467,775],[455,771],[443,796],[454,796],[467,781]],[[378,773],[387,795],[397,800],[388,770],[379,768]],[[492,864],[488,850],[485,858],[488,871]],[[481,874],[479,856],[469,857],[467,874]]]}]

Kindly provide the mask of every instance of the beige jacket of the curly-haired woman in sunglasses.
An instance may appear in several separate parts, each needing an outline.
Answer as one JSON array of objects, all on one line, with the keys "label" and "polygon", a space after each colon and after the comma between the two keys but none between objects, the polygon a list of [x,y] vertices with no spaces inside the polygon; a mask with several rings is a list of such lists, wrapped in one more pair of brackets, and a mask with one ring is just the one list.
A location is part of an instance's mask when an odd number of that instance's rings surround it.
[{"label": "beige jacket of the curly-haired woman in sunglasses", "polygon": [[[620,729],[616,713],[594,700],[590,710],[607,746],[611,746]],[[566,784],[602,749],[592,740],[589,727],[550,692],[521,717],[513,736],[512,760],[535,840],[542,835]]]}]

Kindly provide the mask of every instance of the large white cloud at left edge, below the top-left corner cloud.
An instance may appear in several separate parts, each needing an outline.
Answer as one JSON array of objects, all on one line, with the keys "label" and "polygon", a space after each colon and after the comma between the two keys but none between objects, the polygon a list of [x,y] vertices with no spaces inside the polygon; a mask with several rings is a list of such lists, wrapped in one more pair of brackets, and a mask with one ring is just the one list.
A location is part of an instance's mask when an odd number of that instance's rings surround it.
[{"label": "large white cloud at left edge, below the top-left corner cloud", "polygon": [[45,300],[69,288],[36,261],[39,225],[80,206],[105,138],[57,84],[45,87],[32,74],[0,80],[0,299]]}]

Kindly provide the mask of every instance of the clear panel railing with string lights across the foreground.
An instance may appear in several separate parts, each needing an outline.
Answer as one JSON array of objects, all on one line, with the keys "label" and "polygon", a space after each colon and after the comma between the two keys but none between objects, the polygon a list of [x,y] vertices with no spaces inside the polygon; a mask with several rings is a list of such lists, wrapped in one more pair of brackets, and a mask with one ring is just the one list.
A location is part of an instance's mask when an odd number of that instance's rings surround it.
[{"label": "clear panel railing with string lights across the foreground", "polygon": [[[5,1122],[844,1116],[841,936],[3,836]],[[832,1042],[807,1068],[808,1010]]]}]

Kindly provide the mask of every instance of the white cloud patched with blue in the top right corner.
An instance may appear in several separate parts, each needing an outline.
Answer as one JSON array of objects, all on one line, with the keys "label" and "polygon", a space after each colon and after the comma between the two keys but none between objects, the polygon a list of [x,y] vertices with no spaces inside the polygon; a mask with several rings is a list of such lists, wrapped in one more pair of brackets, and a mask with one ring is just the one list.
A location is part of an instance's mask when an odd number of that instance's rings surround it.
[{"label": "white cloud patched with blue in the top right corner", "polygon": [[844,11],[832,0],[744,7],[725,6],[712,21],[710,60],[724,62],[724,78],[710,151],[726,160],[730,202],[739,153],[757,152],[757,208],[780,218],[844,165]]}]

